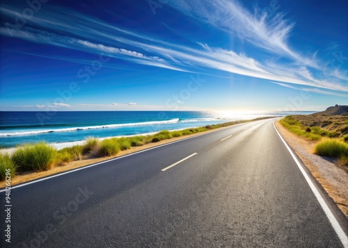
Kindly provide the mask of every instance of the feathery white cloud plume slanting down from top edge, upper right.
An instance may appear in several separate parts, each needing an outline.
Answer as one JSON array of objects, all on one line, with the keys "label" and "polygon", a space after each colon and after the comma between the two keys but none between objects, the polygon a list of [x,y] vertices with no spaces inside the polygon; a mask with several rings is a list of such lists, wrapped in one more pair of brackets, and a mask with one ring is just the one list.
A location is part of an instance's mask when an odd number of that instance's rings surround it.
[{"label": "feathery white cloud plume slanting down from top edge, upper right", "polygon": [[167,4],[201,22],[237,34],[256,47],[289,56],[303,65],[317,67],[314,55],[302,56],[287,44],[294,22],[287,21],[284,13],[270,18],[265,13],[251,13],[237,1],[230,0],[169,0]]}]

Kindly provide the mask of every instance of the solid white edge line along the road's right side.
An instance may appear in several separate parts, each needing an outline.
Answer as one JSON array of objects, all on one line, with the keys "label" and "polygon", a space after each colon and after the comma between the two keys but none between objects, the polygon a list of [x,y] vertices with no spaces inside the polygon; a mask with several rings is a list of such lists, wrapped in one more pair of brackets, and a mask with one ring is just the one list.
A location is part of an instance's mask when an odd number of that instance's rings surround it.
[{"label": "solid white edge line along the road's right side", "polygon": [[[274,124],[275,122],[273,122],[273,126],[274,129],[276,129],[276,125]],[[335,232],[338,235],[338,238],[340,238],[343,247],[348,248],[348,237],[345,234],[345,232],[343,231],[343,229],[341,228],[340,224],[338,223],[338,221],[336,220],[335,216],[333,215],[333,213],[331,212],[329,206],[326,204],[326,202],[324,201],[322,195],[320,195],[319,191],[317,190],[317,188],[315,188],[315,185],[313,184],[313,182],[310,180],[310,177],[308,176],[308,174],[306,173],[306,171],[303,169],[303,167],[301,166],[301,163],[299,163],[299,160],[296,158],[296,156],[294,155],[294,153],[292,152],[292,150],[290,149],[290,147],[287,145],[287,142],[285,142],[285,140],[283,139],[282,135],[280,135],[280,133],[278,132],[278,130],[276,129],[276,132],[278,133],[280,140],[283,141],[283,143],[285,144],[285,147],[287,148],[287,150],[290,152],[292,158],[295,160],[296,165],[299,167],[300,171],[302,172],[303,176],[305,177],[308,185],[310,186],[310,189],[313,191],[315,197],[317,197],[317,200],[319,201],[320,206],[322,206],[322,209],[324,210],[324,213],[326,214],[326,217],[328,217],[331,225],[333,226],[333,229],[335,230]]]}]

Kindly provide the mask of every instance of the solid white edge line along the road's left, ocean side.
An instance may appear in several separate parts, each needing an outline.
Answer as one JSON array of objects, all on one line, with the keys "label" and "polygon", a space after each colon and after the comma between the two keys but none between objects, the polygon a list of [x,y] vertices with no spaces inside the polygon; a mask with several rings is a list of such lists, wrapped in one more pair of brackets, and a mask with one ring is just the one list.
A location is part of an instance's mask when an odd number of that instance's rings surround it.
[{"label": "solid white edge line along the road's left, ocean side", "polygon": [[[257,121],[257,122],[258,122],[258,121]],[[240,125],[243,125],[243,124],[247,124],[247,123],[235,124],[235,125],[233,125],[233,126],[240,126]],[[209,133],[215,133],[215,132],[218,132],[218,131],[222,131],[222,130],[224,130],[224,129],[229,129],[229,128],[231,128],[231,127],[232,127],[232,126],[226,126],[226,127],[224,127],[224,128],[221,128],[221,129],[216,129],[216,130],[214,130],[214,131],[210,131]],[[120,156],[120,157],[117,157],[117,158],[111,158],[111,159],[109,159],[109,160],[105,160],[105,161],[102,161],[102,162],[100,162],[100,163],[95,163],[95,164],[93,164],[93,165],[87,165],[87,166],[80,167],[80,168],[77,168],[77,169],[74,169],[74,170],[70,170],[70,171],[68,171],[68,172],[61,172],[61,173],[58,173],[58,174],[53,175],[53,176],[47,176],[47,177],[45,177],[45,178],[43,178],[43,179],[36,179],[36,180],[31,181],[31,182],[28,182],[28,183],[23,183],[23,184],[20,184],[20,185],[15,185],[15,186],[10,186],[10,187],[11,187],[11,190],[13,190],[13,189],[15,189],[15,188],[21,188],[21,187],[23,187],[23,186],[30,185],[30,184],[33,184],[33,183],[38,183],[38,182],[40,182],[40,181],[45,181],[45,180],[48,180],[48,179],[53,179],[53,178],[56,177],[56,176],[63,176],[63,175],[65,175],[65,174],[69,174],[69,173],[72,173],[72,172],[77,172],[77,171],[79,171],[79,170],[84,170],[84,169],[87,169],[87,168],[89,168],[89,167],[93,167],[93,166],[95,166],[95,165],[101,165],[101,164],[103,164],[103,163],[108,163],[108,162],[111,162],[111,161],[113,161],[113,160],[118,160],[118,159],[120,159],[120,158],[125,158],[125,157],[128,157],[128,156],[133,156],[133,155],[135,155],[135,154],[140,154],[140,153],[145,152],[145,151],[150,151],[150,150],[152,150],[152,149],[157,149],[157,148],[159,148],[159,147],[164,147],[164,146],[166,146],[166,145],[168,145],[168,144],[174,144],[174,143],[176,143],[176,142],[181,142],[181,141],[184,141],[184,140],[189,140],[189,139],[196,138],[196,137],[199,137],[199,136],[207,135],[207,134],[209,134],[209,133],[202,133],[202,134],[200,134],[200,135],[195,135],[195,136],[192,136],[192,137],[189,137],[189,138],[184,138],[184,139],[182,139],[182,140],[177,140],[177,141],[173,141],[173,142],[168,142],[168,143],[166,143],[166,144],[161,144],[161,145],[159,145],[159,146],[157,146],[157,147],[151,147],[151,148],[148,148],[148,149],[144,149],[144,150],[142,150],[142,151],[136,151],[136,152],[134,152],[134,153],[132,153],[132,154],[127,154],[127,155]],[[3,190],[0,190],[0,193],[1,193],[1,192],[4,192],[5,190],[6,190],[6,188],[3,188]]]}]

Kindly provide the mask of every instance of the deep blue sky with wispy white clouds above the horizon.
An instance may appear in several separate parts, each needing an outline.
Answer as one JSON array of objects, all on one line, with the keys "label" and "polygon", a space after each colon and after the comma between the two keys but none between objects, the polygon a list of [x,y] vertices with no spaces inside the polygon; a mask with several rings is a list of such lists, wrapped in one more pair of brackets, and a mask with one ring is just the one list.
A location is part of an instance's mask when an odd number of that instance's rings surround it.
[{"label": "deep blue sky with wispy white clouds above the horizon", "polygon": [[348,105],[347,6],[343,0],[1,1],[0,109]]}]

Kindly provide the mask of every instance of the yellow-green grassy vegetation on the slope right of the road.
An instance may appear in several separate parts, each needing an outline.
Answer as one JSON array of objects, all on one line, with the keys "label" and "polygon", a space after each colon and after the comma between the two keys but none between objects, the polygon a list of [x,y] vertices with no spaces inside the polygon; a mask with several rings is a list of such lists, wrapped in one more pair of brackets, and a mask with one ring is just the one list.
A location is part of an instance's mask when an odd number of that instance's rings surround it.
[{"label": "yellow-green grassy vegetation on the slope right of the road", "polygon": [[296,135],[317,142],[315,154],[332,156],[340,164],[348,165],[347,117],[290,115],[280,119],[280,124]]}]

